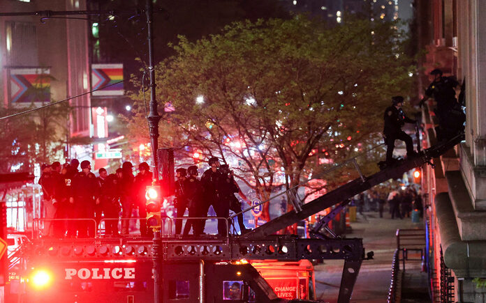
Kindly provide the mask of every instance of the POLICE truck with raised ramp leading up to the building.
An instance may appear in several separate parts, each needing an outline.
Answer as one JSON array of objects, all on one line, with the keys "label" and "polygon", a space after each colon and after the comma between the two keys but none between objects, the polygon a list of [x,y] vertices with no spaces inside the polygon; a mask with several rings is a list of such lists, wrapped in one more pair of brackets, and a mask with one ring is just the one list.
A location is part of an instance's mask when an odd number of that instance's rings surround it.
[{"label": "POLICE truck with raised ramp leading up to the building", "polygon": [[[54,240],[35,238],[29,247],[24,272],[23,302],[297,302],[279,298],[260,273],[271,272],[271,262],[344,260],[337,302],[350,302],[365,254],[361,238],[334,238],[319,233],[313,238],[277,235],[277,231],[330,208],[390,178],[432,164],[464,134],[422,150],[371,176],[359,178],[286,212],[244,235],[180,237],[164,228],[154,240],[138,237]],[[330,214],[332,216],[332,213]],[[166,218],[167,219],[167,218]],[[172,220],[168,218],[168,220]],[[171,230],[171,228],[170,228]],[[260,263],[260,264],[258,264]],[[254,266],[253,266],[253,265]],[[277,270],[277,263],[274,269]],[[306,277],[307,276],[307,277]],[[311,272],[302,274],[298,302],[315,302]],[[307,278],[307,279],[305,279]],[[307,284],[307,285],[306,285]],[[159,297],[154,298],[154,288]],[[308,300],[308,301],[304,301]]]}]

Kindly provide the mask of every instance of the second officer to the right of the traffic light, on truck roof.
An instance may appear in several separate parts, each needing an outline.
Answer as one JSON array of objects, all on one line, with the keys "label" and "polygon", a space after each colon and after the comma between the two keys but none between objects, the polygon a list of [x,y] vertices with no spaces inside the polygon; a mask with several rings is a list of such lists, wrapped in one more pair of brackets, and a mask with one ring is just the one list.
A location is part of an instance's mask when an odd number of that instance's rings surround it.
[{"label": "second officer to the right of the traffic light, on truck roof", "polygon": [[[204,193],[202,182],[198,180],[198,166],[189,166],[187,168],[187,174],[189,176],[184,180],[184,196],[189,207],[189,217],[205,217],[207,215],[207,208],[202,198]],[[182,234],[189,235],[192,227],[194,235],[201,235],[204,231],[204,225],[205,222],[201,219],[188,219]]]}]

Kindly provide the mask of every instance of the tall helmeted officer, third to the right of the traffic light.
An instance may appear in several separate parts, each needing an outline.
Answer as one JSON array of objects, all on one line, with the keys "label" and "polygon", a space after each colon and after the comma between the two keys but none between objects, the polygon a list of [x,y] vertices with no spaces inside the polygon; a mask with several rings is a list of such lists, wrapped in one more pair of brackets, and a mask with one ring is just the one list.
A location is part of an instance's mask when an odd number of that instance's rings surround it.
[{"label": "tall helmeted officer, third to the right of the traffic light", "polygon": [[[216,187],[216,182],[220,178],[221,173],[219,172],[219,160],[217,157],[210,157],[209,161],[209,169],[207,169],[204,173],[202,173],[201,177],[201,183],[202,183],[202,188],[204,189],[204,201],[202,202],[202,209],[201,212],[204,214],[204,216],[207,216],[207,212],[209,210],[209,207],[212,205],[214,211],[216,212],[216,216],[219,217],[219,214],[217,212],[217,203],[218,203],[218,197],[217,197],[217,187]],[[218,220],[218,226],[222,224],[223,222],[219,222],[221,220]],[[206,222],[202,223],[202,230],[204,231]],[[226,226],[226,223],[224,224]],[[218,228],[219,231],[219,228]]]}]

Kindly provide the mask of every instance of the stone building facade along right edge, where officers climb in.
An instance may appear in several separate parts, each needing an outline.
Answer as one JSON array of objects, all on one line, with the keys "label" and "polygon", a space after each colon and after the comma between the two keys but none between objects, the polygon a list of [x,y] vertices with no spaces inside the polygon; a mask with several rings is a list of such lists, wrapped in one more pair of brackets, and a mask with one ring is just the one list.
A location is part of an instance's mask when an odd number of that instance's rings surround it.
[{"label": "stone building facade along right edge, where officers climb in", "polygon": [[[418,91],[441,68],[466,84],[466,139],[424,166],[431,285],[441,302],[486,302],[486,2],[418,0],[418,42],[427,54]],[[433,102],[423,110],[429,146],[436,142]],[[436,301],[434,301],[436,302]]]}]

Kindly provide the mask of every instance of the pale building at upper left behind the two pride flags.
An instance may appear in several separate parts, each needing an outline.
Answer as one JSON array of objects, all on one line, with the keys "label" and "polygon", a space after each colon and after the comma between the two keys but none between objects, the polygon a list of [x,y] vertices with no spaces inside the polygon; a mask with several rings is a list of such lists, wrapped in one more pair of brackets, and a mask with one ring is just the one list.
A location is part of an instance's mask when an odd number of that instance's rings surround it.
[{"label": "pale building at upper left behind the two pride flags", "polygon": [[[88,22],[64,16],[43,19],[29,12],[44,10],[85,10],[84,0],[0,0],[0,96],[2,106],[22,108],[64,100],[90,90],[88,60]],[[40,95],[32,91],[40,91]],[[64,118],[66,137],[90,137],[91,95],[66,102],[70,114]],[[26,116],[29,118],[29,116]],[[71,151],[66,146],[65,157]],[[89,158],[91,155],[87,155]],[[61,156],[62,157],[62,156]],[[61,159],[57,159],[61,160]]]}]

